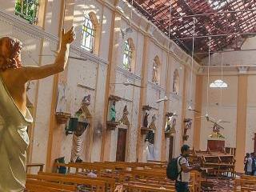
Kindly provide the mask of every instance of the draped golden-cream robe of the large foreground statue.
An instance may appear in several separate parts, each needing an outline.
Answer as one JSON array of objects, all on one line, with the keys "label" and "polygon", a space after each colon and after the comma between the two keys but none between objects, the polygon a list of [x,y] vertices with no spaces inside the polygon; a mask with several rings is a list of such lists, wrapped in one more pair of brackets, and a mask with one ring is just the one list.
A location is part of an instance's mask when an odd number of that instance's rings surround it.
[{"label": "draped golden-cream robe of the large foreground statue", "polygon": [[16,106],[0,78],[0,191],[22,192],[26,183],[26,149],[29,137],[27,126],[33,122],[28,109],[26,115]]}]

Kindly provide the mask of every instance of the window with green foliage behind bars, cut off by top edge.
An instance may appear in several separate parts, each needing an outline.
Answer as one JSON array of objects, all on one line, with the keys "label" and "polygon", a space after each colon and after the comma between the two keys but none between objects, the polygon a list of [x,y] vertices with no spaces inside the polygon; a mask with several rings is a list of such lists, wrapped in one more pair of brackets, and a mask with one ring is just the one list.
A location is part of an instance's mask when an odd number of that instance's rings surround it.
[{"label": "window with green foliage behind bars, cut off by top edge", "polygon": [[16,0],[15,14],[25,18],[31,24],[38,23],[39,0]]}]

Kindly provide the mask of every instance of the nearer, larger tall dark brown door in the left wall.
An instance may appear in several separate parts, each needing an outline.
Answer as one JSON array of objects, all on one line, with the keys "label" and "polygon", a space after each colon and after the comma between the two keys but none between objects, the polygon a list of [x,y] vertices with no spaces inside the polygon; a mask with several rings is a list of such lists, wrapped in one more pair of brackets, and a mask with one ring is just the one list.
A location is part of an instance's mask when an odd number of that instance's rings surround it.
[{"label": "nearer, larger tall dark brown door in the left wall", "polygon": [[126,161],[126,129],[118,129],[118,143],[117,143],[117,154],[116,161],[117,162],[125,162]]}]

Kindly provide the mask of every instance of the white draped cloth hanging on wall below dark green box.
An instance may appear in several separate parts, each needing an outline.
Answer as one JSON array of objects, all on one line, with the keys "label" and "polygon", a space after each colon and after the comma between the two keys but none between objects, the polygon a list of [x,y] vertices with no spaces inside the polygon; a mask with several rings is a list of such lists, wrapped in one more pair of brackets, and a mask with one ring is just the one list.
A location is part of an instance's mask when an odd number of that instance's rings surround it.
[{"label": "white draped cloth hanging on wall below dark green box", "polygon": [[78,157],[81,157],[83,141],[84,141],[84,134],[82,134],[79,137],[73,134],[73,143],[72,143],[71,159],[70,159],[71,162],[75,162]]}]

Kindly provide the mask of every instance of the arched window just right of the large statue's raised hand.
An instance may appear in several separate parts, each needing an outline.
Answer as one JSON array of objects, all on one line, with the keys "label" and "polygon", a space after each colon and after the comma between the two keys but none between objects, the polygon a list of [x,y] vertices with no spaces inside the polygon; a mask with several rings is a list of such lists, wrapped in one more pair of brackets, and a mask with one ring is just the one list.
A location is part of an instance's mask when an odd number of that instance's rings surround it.
[{"label": "arched window just right of the large statue's raised hand", "polygon": [[85,14],[85,19],[82,26],[82,48],[94,52],[94,42],[95,42],[95,27],[90,15]]}]

